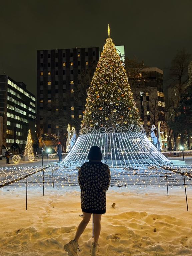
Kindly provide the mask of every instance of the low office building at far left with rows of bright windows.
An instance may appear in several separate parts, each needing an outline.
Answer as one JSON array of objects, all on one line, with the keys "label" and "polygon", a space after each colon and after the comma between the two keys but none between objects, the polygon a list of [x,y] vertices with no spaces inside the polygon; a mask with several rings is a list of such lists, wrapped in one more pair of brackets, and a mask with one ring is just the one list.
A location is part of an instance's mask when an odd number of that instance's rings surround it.
[{"label": "low office building at far left with rows of bright windows", "polygon": [[0,75],[0,96],[3,147],[10,148],[15,142],[22,148],[28,129],[35,133],[35,96],[23,82],[15,82],[7,75]]}]

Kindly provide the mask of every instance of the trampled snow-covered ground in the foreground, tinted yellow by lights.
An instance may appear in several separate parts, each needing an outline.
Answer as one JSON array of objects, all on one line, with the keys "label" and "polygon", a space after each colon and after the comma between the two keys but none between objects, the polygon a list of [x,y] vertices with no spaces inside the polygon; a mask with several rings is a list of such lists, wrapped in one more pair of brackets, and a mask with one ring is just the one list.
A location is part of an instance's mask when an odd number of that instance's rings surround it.
[{"label": "trampled snow-covered ground in the foreground, tinted yellow by lights", "polygon": [[[192,255],[192,189],[115,188],[107,192],[102,216],[99,256]],[[0,255],[65,256],[63,245],[74,238],[81,221],[79,187],[15,186],[0,189]],[[116,203],[112,208],[112,203]],[[80,253],[90,255],[92,223],[79,240]]]}]

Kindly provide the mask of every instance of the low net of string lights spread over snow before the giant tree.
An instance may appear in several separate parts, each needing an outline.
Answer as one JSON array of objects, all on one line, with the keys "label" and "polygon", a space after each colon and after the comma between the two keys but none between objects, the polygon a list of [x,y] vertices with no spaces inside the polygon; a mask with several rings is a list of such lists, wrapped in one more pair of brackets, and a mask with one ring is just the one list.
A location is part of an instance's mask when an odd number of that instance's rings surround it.
[{"label": "low net of string lights spread over snow before the giant tree", "polygon": [[[7,185],[26,186],[77,186],[79,167],[47,166],[47,167],[14,167],[0,169],[0,187]],[[192,185],[192,166],[149,166],[121,167],[111,171],[111,186],[117,187],[164,187]]]}]

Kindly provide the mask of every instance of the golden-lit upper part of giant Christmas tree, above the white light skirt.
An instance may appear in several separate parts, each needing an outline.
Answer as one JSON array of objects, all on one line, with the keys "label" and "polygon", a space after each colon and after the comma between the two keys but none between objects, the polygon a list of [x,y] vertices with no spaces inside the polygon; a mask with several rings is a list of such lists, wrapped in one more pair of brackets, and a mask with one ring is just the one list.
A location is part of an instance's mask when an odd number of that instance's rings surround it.
[{"label": "golden-lit upper part of giant Christmas tree, above the white light skirt", "polygon": [[126,70],[110,38],[109,27],[108,36],[87,93],[82,128],[141,125]]}]

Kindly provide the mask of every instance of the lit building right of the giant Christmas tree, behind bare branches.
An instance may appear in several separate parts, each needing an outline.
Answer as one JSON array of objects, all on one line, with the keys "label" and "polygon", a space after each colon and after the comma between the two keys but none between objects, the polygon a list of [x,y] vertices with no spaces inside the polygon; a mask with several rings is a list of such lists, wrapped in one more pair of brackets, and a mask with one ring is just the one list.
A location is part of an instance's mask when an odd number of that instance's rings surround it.
[{"label": "lit building right of the giant Christmas tree, behind bare branches", "polygon": [[[163,89],[163,70],[157,67],[144,68],[140,77],[144,77],[144,86],[133,90],[133,96],[139,109],[144,128],[150,133],[154,124],[158,129],[161,123],[161,137],[163,147],[166,142],[165,99]],[[149,135],[150,137],[150,135]]]}]

